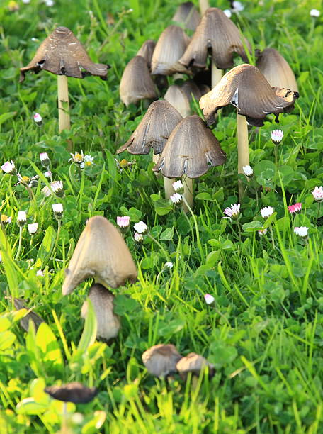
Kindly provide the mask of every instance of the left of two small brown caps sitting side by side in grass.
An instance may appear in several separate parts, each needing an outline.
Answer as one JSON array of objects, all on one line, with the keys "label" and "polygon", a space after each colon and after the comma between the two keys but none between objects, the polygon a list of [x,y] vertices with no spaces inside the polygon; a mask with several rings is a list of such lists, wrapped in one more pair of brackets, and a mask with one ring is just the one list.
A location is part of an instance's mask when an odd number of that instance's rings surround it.
[{"label": "left of two small brown caps sitting side by side in grass", "polygon": [[142,362],[149,374],[155,377],[165,377],[176,372],[176,363],[181,360],[181,355],[175,345],[154,345],[142,354]]}]

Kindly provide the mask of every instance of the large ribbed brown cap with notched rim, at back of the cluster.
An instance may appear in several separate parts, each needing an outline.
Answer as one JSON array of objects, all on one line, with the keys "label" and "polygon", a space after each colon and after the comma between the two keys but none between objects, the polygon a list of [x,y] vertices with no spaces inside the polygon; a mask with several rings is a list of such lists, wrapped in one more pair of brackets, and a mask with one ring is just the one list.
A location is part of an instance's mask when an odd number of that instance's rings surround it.
[{"label": "large ribbed brown cap with notched rim, at back of the cluster", "polygon": [[[244,40],[244,44],[251,50],[247,40]],[[205,68],[210,48],[212,60],[219,69],[233,66],[234,52],[241,56],[244,62],[248,61],[239,29],[221,9],[217,8],[205,11],[179,63],[186,67]]]}]

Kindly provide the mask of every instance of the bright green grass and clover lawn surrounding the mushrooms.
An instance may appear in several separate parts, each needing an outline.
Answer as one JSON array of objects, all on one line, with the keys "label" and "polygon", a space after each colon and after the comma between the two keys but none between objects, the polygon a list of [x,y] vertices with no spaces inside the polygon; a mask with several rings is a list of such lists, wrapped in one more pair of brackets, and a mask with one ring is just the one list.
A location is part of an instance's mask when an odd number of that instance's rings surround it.
[{"label": "bright green grass and clover lawn surrounding the mushrooms", "polygon": [[[254,179],[253,184],[242,179],[248,194],[239,225],[222,219],[223,210],[238,201],[230,107],[214,129],[228,160],[196,184],[193,216],[162,199],[162,179],[151,170],[151,156],[118,156],[119,162],[134,160],[122,170],[115,163],[115,150],[145,113],[142,104],[125,108],[120,102],[121,74],[140,45],[157,40],[171,23],[179,1],[83,0],[69,2],[68,13],[60,0],[52,7],[19,1],[14,12],[8,1],[1,4],[1,165],[13,160],[22,175],[40,175],[35,201],[23,186],[13,185],[15,177],[0,176],[0,212],[13,218],[0,230],[1,432],[57,432],[63,406],[43,389],[72,381],[99,390],[89,404],[67,405],[74,433],[322,432],[323,206],[311,194],[323,181],[322,17],[310,17],[310,9],[322,4],[259,3],[246,2],[232,19],[256,48],[271,46],[288,60],[300,99],[293,113],[280,115],[278,126],[268,116],[265,126],[251,129]],[[217,6],[226,9],[228,2]],[[18,83],[18,68],[57,25],[71,28],[94,61],[111,65],[107,82],[69,79],[72,130],[61,135],[55,77],[27,74]],[[41,127],[33,122],[35,112],[42,115]],[[278,165],[271,142],[275,128],[284,132]],[[71,164],[68,139],[74,151],[94,157],[95,165],[78,170]],[[53,179],[64,183],[62,199],[41,194],[48,180],[40,152],[50,155]],[[64,206],[58,238],[56,202]],[[302,203],[302,212],[292,216],[287,207],[295,202]],[[263,206],[275,208],[268,221],[260,215]],[[30,240],[23,228],[15,260],[18,211],[27,211],[28,223],[38,222],[38,232]],[[86,219],[96,214],[113,223],[128,215],[131,228],[144,220],[167,254],[151,238],[138,244],[132,230],[125,235],[138,281],[114,290],[122,328],[108,344],[96,341],[93,314],[85,323],[80,318],[91,282],[65,297],[61,289]],[[295,226],[309,228],[308,240],[295,235]],[[164,269],[166,260],[174,267]],[[205,304],[206,293],[215,297],[213,304]],[[20,327],[27,311],[17,311],[8,299],[17,296],[44,319],[37,332]],[[198,352],[215,365],[215,376],[189,376],[187,382],[177,375],[149,376],[141,355],[157,343],[173,343],[182,355]]]}]

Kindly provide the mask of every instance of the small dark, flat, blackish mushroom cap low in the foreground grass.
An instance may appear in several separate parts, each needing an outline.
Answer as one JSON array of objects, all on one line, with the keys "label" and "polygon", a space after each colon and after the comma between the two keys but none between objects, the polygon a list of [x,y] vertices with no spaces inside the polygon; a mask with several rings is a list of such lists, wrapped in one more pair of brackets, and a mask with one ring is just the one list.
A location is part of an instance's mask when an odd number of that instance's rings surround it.
[{"label": "small dark, flat, blackish mushroom cap low in the foreground grass", "polygon": [[45,387],[44,391],[52,398],[59,401],[74,402],[74,404],[87,404],[98,393],[95,387],[86,387],[78,382]]}]

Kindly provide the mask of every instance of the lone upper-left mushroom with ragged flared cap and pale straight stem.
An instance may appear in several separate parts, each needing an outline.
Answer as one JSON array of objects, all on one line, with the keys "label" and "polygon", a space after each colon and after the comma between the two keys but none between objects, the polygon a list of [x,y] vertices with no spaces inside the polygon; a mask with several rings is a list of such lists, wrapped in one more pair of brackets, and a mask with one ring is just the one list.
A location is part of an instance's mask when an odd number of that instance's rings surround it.
[{"label": "lone upper-left mushroom with ragged flared cap and pale straight stem", "polygon": [[57,74],[58,122],[61,133],[64,129],[70,129],[67,77],[81,79],[86,75],[96,75],[105,80],[108,68],[108,65],[91,61],[71,30],[57,27],[42,42],[33,60],[20,69],[20,82],[23,82],[26,72],[30,70],[37,74],[45,69]]}]

